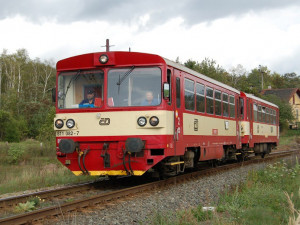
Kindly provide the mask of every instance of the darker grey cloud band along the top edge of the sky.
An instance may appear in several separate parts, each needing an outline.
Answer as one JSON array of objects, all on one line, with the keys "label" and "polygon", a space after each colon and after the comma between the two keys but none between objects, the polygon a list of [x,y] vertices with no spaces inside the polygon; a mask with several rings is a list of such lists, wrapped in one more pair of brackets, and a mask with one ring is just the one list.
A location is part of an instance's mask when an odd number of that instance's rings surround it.
[{"label": "darker grey cloud band along the top edge of the sky", "polygon": [[249,11],[300,5],[294,0],[0,0],[0,3],[0,20],[19,15],[38,23],[100,20],[131,24],[148,14],[149,26],[177,17],[193,25]]}]

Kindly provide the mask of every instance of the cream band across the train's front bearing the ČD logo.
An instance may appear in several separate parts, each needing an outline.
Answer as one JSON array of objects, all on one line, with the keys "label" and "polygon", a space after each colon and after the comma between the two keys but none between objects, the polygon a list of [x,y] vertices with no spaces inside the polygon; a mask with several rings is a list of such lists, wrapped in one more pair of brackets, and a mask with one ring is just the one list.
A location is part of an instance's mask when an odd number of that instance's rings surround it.
[{"label": "cream band across the train's front bearing the \u010cD logo", "polygon": [[[149,120],[152,116],[158,117],[157,126],[150,125]],[[139,117],[147,119],[145,126],[137,124]],[[54,121],[57,119],[61,119],[64,126],[61,129],[54,126],[56,137],[174,134],[174,112],[167,110],[62,113],[56,114]],[[71,129],[65,125],[68,119],[75,121],[75,126]]]}]

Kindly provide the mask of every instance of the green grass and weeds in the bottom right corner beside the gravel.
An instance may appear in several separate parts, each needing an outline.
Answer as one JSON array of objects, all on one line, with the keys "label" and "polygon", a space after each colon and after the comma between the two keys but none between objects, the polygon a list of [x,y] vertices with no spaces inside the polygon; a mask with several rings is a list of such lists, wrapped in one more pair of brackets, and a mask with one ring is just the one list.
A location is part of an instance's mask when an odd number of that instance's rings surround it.
[{"label": "green grass and weeds in the bottom right corner beside the gravel", "polygon": [[297,225],[300,222],[300,165],[277,162],[265,170],[252,171],[244,184],[225,190],[216,203],[216,211],[202,206],[168,217],[154,215],[152,224],[245,224]]}]

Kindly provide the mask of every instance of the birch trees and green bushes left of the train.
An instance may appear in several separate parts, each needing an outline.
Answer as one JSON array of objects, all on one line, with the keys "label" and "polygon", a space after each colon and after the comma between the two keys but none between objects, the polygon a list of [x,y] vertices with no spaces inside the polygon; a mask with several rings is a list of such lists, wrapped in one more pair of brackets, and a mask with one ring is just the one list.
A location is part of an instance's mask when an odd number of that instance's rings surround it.
[{"label": "birch trees and green bushes left of the train", "polygon": [[36,138],[51,108],[55,68],[32,60],[25,49],[0,55],[0,141]]}]

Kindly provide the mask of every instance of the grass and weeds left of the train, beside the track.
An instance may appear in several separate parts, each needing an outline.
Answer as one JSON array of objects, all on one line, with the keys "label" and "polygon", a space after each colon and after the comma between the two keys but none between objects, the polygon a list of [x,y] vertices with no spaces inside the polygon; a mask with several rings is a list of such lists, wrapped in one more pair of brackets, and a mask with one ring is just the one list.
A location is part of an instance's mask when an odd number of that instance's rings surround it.
[{"label": "grass and weeds left of the train, beside the track", "polygon": [[[11,153],[13,149],[13,152]],[[21,152],[21,154],[19,154]],[[34,140],[0,143],[0,194],[94,180],[75,176],[56,159],[55,147]]]}]

